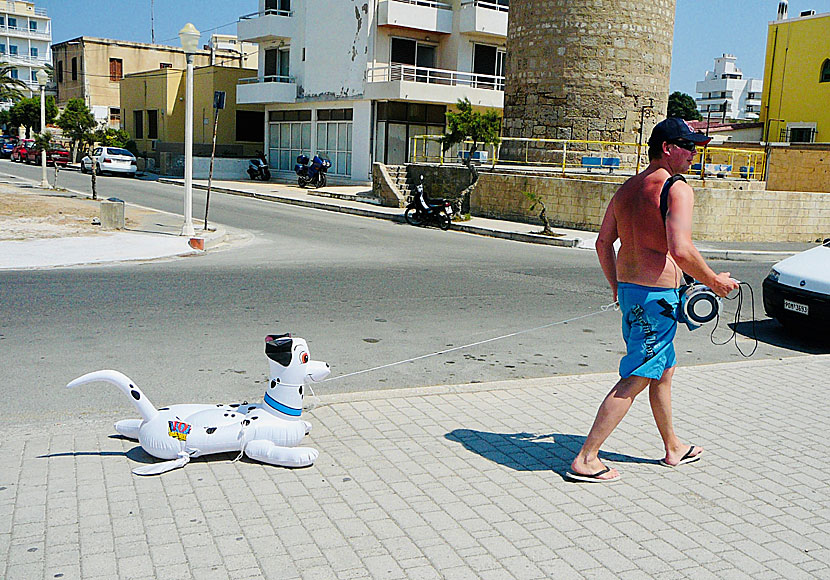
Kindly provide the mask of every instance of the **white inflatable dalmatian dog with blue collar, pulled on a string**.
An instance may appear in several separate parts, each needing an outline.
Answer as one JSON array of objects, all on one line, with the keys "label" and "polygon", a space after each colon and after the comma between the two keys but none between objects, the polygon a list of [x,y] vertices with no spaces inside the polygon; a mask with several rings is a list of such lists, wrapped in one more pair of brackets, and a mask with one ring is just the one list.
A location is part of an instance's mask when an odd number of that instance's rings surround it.
[{"label": "white inflatable dalmatian dog with blue collar, pulled on a string", "polygon": [[309,360],[308,345],[290,334],[265,337],[270,380],[262,403],[206,405],[183,404],[156,409],[126,375],[102,370],[78,377],[69,388],[85,383],[112,383],[135,405],[141,419],[125,419],[115,430],[153,457],[167,459],[133,470],[136,475],[156,475],[185,466],[191,457],[239,451],[251,459],[283,467],[306,467],[319,453],[297,447],[311,430],[300,419],[306,379],[321,381],[329,365]]}]

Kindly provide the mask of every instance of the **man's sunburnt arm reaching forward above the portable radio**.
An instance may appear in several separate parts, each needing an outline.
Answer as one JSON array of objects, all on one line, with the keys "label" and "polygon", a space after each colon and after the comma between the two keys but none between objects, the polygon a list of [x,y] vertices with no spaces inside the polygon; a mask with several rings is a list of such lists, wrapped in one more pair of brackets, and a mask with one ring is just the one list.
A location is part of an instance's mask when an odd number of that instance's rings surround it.
[{"label": "man's sunburnt arm reaching forward above the portable radio", "polygon": [[669,190],[669,212],[666,214],[669,253],[684,272],[709,286],[718,296],[726,296],[738,284],[730,278],[729,272],[715,274],[695,247],[692,241],[694,205],[694,192],[687,183],[678,181],[672,185]]}]

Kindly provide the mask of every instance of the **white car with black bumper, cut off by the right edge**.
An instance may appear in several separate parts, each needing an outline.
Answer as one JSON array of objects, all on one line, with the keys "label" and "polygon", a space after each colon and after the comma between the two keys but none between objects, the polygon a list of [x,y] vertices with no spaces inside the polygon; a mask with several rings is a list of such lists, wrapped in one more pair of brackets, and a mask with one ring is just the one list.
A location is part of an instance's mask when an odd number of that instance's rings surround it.
[{"label": "white car with black bumper, cut off by the right edge", "polygon": [[764,280],[764,310],[786,327],[830,328],[830,239],[772,267]]}]

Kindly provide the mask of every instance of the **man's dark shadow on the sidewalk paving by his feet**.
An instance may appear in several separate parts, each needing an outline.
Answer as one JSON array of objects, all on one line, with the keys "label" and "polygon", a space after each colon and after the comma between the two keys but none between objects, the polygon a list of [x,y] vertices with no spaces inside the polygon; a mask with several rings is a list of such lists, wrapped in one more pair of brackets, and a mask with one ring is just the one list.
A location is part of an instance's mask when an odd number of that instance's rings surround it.
[{"label": "man's dark shadow on the sidewalk paving by his feet", "polygon": [[[562,478],[585,442],[585,436],[568,433],[538,435],[492,433],[474,429],[455,429],[444,437],[461,443],[467,450],[505,467],[517,471],[553,471]],[[659,463],[657,459],[604,451],[600,451],[599,458],[618,463]]]}]

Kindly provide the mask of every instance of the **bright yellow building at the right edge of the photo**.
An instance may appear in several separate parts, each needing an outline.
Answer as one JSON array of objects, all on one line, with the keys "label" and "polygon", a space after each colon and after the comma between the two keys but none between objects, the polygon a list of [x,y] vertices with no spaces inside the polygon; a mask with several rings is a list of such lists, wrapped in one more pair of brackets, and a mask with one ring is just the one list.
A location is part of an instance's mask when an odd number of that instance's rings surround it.
[{"label": "bright yellow building at the right edge of the photo", "polygon": [[830,142],[830,13],[770,23],[761,121],[764,141]]}]

